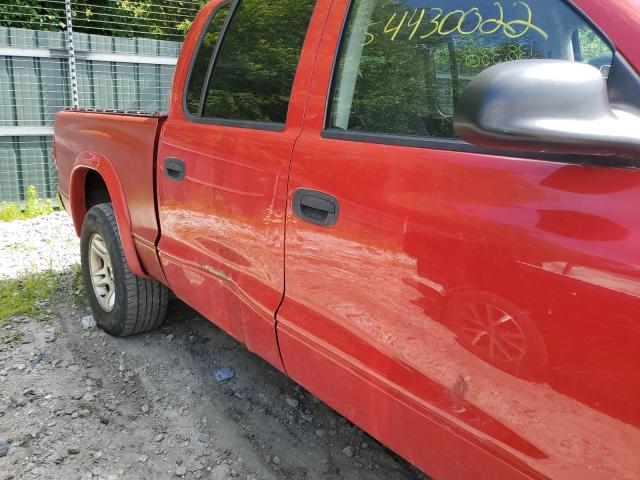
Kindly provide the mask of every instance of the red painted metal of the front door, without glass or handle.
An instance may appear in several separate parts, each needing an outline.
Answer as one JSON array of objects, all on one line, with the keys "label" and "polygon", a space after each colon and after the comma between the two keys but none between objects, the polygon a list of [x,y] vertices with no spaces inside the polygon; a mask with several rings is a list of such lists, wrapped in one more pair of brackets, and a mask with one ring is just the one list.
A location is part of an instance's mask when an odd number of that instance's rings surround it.
[{"label": "red painted metal of the front door, without glass or handle", "polygon": [[[435,478],[640,478],[640,172],[321,138],[346,4],[292,160],[341,213],[288,214],[287,372]],[[465,340],[487,308],[521,360]]]}]

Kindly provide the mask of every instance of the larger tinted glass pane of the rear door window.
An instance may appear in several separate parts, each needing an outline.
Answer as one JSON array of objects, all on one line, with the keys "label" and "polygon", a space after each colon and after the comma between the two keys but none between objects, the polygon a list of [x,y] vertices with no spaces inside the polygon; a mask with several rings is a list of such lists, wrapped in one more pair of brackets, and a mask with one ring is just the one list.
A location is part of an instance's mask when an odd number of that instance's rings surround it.
[{"label": "larger tinted glass pane of the rear door window", "polygon": [[242,0],[216,60],[205,117],[285,123],[314,4]]}]

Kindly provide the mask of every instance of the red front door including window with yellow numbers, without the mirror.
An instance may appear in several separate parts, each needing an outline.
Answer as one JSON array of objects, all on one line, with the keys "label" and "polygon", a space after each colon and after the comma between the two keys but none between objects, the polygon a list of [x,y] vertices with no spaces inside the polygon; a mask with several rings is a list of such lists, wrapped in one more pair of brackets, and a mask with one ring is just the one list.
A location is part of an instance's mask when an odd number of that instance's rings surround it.
[{"label": "red front door including window with yellow numbers, without the mirror", "polygon": [[435,478],[640,476],[640,172],[481,150],[452,119],[490,65],[606,75],[613,47],[562,0],[329,19],[289,179],[287,373]]}]

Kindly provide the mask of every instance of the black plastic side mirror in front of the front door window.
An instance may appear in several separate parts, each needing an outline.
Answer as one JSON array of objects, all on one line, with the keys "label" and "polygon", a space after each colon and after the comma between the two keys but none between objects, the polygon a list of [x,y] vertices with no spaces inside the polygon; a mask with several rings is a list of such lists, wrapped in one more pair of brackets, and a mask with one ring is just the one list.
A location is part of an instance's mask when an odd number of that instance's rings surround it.
[{"label": "black plastic side mirror in front of the front door window", "polygon": [[454,128],[484,147],[640,155],[640,117],[612,108],[600,71],[578,62],[519,60],[488,68],[462,93]]}]

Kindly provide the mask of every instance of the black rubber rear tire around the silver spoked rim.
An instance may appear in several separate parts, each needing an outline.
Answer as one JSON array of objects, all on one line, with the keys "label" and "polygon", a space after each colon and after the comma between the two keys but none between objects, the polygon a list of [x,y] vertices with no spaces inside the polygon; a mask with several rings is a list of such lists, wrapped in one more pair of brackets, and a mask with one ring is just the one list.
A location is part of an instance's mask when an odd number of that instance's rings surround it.
[{"label": "black rubber rear tire around the silver spoked rim", "polygon": [[[114,285],[114,305],[106,311],[97,298],[91,280],[90,248],[92,238],[104,240],[110,257]],[[91,208],[84,218],[80,236],[82,277],[89,304],[98,326],[116,337],[148,332],[161,326],[167,314],[169,290],[156,280],[140,278],[131,272],[122,250],[118,225],[110,203]]]}]

